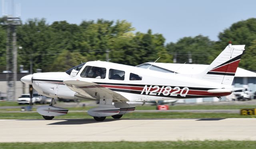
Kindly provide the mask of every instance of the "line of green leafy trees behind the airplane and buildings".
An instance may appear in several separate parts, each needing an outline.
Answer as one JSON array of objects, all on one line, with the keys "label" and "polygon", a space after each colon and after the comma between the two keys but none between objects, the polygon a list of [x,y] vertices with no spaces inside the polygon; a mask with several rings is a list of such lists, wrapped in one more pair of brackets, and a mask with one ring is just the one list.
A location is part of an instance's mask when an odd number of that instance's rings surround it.
[{"label": "line of green leafy trees behind the airplane and buildings", "polygon": [[[2,22],[2,18],[0,18]],[[193,64],[210,64],[227,46],[246,44],[246,53],[240,67],[256,70],[256,18],[232,24],[219,34],[219,41],[211,41],[207,36],[184,37],[178,42],[166,45],[162,34],[136,32],[126,20],[82,21],[81,24],[69,24],[56,21],[47,24],[44,18],[30,19],[17,27],[18,65],[33,72],[64,71],[93,60],[106,60],[109,51],[110,62],[136,66],[145,62],[188,63],[189,53]],[[6,26],[0,25],[0,71],[6,69]]]}]

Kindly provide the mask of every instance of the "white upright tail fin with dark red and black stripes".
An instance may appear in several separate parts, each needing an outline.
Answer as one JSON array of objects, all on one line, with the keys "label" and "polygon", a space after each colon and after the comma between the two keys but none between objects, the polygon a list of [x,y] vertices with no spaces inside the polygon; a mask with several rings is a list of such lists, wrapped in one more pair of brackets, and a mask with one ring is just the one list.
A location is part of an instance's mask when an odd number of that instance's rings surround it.
[{"label": "white upright tail fin with dark red and black stripes", "polygon": [[215,83],[232,85],[240,58],[245,50],[244,46],[228,44],[212,64],[197,77]]}]

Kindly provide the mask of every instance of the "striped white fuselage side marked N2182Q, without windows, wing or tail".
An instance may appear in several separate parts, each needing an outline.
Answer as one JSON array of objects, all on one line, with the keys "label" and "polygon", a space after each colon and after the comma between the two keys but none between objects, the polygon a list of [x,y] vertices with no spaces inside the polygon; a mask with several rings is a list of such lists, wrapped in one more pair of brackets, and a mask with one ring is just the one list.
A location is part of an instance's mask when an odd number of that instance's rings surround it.
[{"label": "striped white fuselage side marked N2182Q, without windows, wing or tail", "polygon": [[[105,79],[81,77],[80,74],[86,66],[106,68],[107,73]],[[108,71],[110,69],[124,71],[124,80],[108,79]],[[129,80],[130,73],[142,76],[142,80]],[[200,89],[232,89],[230,85],[189,77],[190,75],[163,73],[101,61],[87,62],[76,76],[74,73],[72,73],[72,75],[73,76],[68,75],[65,72],[37,73],[33,74],[32,85],[38,93],[48,97],[75,99],[79,97],[74,96],[76,92],[64,85],[64,80],[74,79],[94,82],[103,87],[115,89],[114,91],[126,97],[129,101],[158,101],[177,97],[193,98],[198,96],[214,97],[217,95],[200,95],[200,92],[205,92],[200,91]],[[199,90],[197,88],[199,88]]]}]

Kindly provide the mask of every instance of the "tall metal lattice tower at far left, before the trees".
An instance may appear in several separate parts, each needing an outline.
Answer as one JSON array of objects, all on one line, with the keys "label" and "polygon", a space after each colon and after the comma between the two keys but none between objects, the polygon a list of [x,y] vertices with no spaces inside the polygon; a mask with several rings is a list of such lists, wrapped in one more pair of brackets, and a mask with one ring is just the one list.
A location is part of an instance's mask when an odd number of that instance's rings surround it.
[{"label": "tall metal lattice tower at far left, before the trees", "polygon": [[17,47],[16,47],[16,25],[20,25],[20,18],[6,17],[4,25],[7,26],[6,42],[6,79],[7,79],[7,99],[16,99],[17,81]]}]

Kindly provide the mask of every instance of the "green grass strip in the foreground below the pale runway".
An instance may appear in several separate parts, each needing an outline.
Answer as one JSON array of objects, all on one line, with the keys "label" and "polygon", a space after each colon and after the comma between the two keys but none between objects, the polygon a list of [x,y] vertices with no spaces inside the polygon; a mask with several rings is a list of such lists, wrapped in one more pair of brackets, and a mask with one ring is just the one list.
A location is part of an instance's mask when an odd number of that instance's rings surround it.
[{"label": "green grass strip in the foreground below the pale runway", "polygon": [[255,149],[256,141],[0,143],[1,149]]}]

